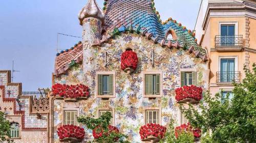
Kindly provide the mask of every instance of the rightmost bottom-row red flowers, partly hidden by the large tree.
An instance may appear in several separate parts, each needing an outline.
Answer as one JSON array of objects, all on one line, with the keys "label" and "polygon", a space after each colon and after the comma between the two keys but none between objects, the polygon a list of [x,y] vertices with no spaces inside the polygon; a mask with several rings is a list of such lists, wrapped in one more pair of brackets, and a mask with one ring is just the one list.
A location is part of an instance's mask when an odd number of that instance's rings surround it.
[{"label": "rightmost bottom-row red flowers, partly hidden by the large tree", "polygon": [[195,138],[201,137],[201,130],[193,128],[190,123],[182,124],[175,128],[175,137],[178,138],[182,132],[191,132]]}]

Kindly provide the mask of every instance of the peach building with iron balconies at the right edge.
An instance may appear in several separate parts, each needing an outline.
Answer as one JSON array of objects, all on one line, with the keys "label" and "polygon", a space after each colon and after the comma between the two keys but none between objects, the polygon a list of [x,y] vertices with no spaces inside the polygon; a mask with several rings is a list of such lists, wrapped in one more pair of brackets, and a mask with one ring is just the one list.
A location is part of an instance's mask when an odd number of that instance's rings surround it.
[{"label": "peach building with iron balconies at the right edge", "polygon": [[209,90],[232,97],[232,81],[256,62],[256,2],[202,1],[195,30],[209,57]]}]

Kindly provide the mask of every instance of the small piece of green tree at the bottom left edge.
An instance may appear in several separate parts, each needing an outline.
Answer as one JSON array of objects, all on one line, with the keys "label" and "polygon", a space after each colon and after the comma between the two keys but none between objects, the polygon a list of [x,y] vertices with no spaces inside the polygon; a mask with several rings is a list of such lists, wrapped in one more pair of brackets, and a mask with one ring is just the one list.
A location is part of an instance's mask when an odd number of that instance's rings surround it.
[{"label": "small piece of green tree at the bottom left edge", "polygon": [[0,142],[10,142],[10,130],[11,126],[9,121],[5,119],[5,113],[0,111]]}]

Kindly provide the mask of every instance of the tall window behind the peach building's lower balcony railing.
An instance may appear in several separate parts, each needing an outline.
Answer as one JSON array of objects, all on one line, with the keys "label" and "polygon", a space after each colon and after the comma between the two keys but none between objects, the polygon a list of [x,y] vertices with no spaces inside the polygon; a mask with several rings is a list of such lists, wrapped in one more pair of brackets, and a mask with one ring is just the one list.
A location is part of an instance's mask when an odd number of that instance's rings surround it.
[{"label": "tall window behind the peach building's lower balcony railing", "polygon": [[235,59],[221,59],[221,82],[232,82],[235,74]]}]

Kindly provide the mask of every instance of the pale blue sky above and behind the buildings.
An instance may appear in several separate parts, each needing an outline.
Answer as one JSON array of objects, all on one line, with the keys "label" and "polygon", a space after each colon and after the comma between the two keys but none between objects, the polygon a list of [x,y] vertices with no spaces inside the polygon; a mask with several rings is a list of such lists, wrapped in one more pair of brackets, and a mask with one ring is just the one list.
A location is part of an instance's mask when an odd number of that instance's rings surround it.
[{"label": "pale blue sky above and behind the buildings", "polygon": [[[104,0],[96,0],[102,8]],[[193,30],[201,0],[155,0],[162,21],[169,17]],[[0,0],[0,70],[12,70],[23,91],[50,88],[57,47],[69,49],[81,38],[78,12],[87,0]]]}]

